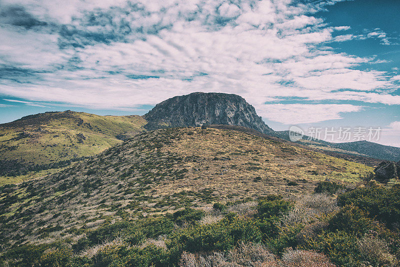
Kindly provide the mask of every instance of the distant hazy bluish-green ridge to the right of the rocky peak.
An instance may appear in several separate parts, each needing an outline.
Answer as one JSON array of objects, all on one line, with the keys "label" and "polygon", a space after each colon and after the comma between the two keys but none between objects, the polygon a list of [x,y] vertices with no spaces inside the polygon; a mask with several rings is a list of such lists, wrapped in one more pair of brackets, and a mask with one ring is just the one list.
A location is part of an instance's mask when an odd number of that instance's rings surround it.
[{"label": "distant hazy bluish-green ridge to the right of the rocky peak", "polygon": [[[288,130],[274,131],[270,134],[284,140],[289,140]],[[348,155],[366,156],[391,161],[400,160],[400,147],[378,144],[366,140],[335,143],[316,138],[311,139],[308,136],[304,135],[302,139],[296,141],[296,143],[301,143],[303,145],[307,145],[309,147],[317,148],[324,151],[331,151]]]}]

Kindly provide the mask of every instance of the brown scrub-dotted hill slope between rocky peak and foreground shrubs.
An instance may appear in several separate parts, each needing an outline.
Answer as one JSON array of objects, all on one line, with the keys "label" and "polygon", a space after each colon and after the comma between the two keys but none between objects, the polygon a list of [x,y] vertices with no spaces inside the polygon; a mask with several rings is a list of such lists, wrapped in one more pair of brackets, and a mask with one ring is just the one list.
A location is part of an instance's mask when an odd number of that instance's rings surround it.
[{"label": "brown scrub-dotted hill slope between rocky peak and foreground shrubs", "polygon": [[[105,220],[296,195],[371,167],[226,129],[140,133],[60,173],[0,189],[0,242],[71,237]],[[73,230],[74,229],[74,230]]]}]

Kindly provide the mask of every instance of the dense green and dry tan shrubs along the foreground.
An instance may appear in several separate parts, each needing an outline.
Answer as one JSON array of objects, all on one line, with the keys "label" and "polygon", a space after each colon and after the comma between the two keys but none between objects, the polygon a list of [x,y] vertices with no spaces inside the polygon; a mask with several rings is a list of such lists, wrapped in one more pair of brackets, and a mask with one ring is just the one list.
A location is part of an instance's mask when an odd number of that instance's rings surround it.
[{"label": "dense green and dry tan shrubs along the foreground", "polygon": [[0,265],[400,264],[400,186],[358,187],[339,194],[337,206],[333,201],[326,204],[329,197],[315,194],[289,201],[269,195],[258,199],[252,213],[233,213],[229,206],[215,204],[210,214],[186,208],[165,216],[107,222],[86,230],[77,241],[8,249],[1,254]]}]

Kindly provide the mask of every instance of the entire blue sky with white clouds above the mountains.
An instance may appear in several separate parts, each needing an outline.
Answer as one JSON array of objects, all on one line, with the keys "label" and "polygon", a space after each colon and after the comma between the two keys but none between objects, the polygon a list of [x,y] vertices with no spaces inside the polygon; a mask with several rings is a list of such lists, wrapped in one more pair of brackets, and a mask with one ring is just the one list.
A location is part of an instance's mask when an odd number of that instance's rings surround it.
[{"label": "entire blue sky with white clouds above the mountains", "polygon": [[400,146],[398,10],[398,0],[0,0],[0,123],[144,114],[175,95],[226,92],[275,130],[333,127],[345,141],[341,128],[379,128],[373,141]]}]

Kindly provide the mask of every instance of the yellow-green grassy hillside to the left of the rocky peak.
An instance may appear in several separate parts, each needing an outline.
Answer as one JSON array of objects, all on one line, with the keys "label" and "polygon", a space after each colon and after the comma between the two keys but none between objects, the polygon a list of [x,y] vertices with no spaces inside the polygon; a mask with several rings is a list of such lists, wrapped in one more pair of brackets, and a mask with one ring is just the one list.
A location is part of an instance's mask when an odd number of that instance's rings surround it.
[{"label": "yellow-green grassy hillside to the left of the rocky peak", "polygon": [[100,116],[84,112],[46,112],[0,124],[4,171],[99,153],[121,140],[119,134],[143,130],[138,115]]}]

